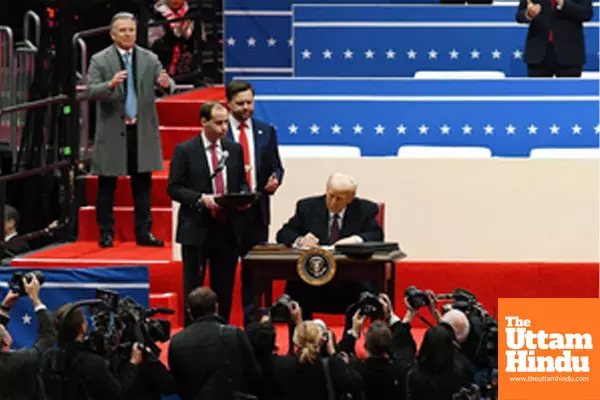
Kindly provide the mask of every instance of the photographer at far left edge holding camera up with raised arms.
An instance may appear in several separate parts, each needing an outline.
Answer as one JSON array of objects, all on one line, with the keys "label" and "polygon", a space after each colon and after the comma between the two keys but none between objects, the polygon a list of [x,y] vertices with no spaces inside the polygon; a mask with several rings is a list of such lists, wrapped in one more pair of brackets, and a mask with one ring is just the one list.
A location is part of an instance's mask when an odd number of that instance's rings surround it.
[{"label": "photographer at far left edge holding camera up with raised arms", "polygon": [[[25,276],[15,273],[9,283],[9,292],[0,306],[0,399],[44,399],[44,388],[39,379],[43,353],[56,342],[52,315],[40,301],[40,273]],[[16,279],[14,279],[16,278]],[[29,296],[38,319],[38,337],[30,349],[11,351],[12,337],[6,330],[11,307],[20,296]]]}]

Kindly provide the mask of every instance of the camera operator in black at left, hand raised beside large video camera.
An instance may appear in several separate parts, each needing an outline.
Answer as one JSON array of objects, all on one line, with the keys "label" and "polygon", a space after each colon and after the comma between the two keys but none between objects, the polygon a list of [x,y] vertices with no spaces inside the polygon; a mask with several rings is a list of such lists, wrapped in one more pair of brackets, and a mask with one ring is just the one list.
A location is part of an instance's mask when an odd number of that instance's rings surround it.
[{"label": "camera operator in black at left, hand raised beside large video camera", "polygon": [[[63,305],[56,312],[55,324],[60,331],[61,349],[46,354],[42,370],[44,386],[49,400],[106,400],[123,399],[129,393],[143,353],[137,344],[132,346],[129,360],[111,371],[109,362],[92,352],[85,342],[88,329],[81,308]],[[64,357],[60,355],[64,354]],[[64,363],[63,363],[64,362]]]}]

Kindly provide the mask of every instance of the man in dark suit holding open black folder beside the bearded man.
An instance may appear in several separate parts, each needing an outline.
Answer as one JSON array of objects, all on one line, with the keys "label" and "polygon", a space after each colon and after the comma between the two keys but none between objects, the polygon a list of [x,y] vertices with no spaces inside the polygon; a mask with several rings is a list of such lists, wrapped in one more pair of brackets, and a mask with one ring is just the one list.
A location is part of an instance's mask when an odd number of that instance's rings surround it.
[{"label": "man in dark suit holding open black folder beside the bearded man", "polygon": [[[200,108],[203,131],[175,148],[167,192],[181,204],[177,242],[182,245],[184,298],[204,282],[219,299],[219,315],[229,321],[231,297],[244,229],[244,212],[225,210],[215,198],[248,191],[242,146],[225,138],[227,108],[207,102]],[[186,325],[189,324],[186,315]]]}]

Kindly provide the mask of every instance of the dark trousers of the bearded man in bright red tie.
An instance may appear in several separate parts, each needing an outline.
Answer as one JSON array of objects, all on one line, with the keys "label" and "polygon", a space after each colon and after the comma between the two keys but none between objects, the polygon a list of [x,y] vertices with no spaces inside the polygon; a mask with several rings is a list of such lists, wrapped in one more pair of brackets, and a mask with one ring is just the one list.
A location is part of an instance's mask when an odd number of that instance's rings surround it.
[{"label": "dark trousers of the bearded man in bright red tie", "polygon": [[[243,258],[254,246],[269,240],[269,227],[265,224],[260,203],[255,204],[246,213],[246,225],[242,238],[241,257]],[[244,310],[244,326],[254,319],[254,297],[256,287],[252,270],[244,265],[242,259],[242,309]]]}]

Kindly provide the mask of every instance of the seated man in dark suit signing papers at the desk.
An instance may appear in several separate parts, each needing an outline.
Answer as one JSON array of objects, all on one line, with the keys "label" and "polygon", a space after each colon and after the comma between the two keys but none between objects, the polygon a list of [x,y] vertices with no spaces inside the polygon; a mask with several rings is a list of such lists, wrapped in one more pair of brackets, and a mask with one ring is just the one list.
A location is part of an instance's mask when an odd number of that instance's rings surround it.
[{"label": "seated man in dark suit signing papers at the desk", "polygon": [[[356,190],[354,179],[333,174],[327,181],[325,195],[296,203],[296,213],[277,232],[277,242],[290,247],[312,248],[383,241],[383,230],[376,219],[379,207],[372,201],[356,197]],[[364,289],[367,288],[358,282],[350,284],[334,278],[320,287],[288,282],[286,292],[302,305],[305,319],[311,319],[312,311],[345,312]]]}]

